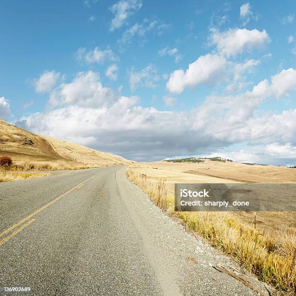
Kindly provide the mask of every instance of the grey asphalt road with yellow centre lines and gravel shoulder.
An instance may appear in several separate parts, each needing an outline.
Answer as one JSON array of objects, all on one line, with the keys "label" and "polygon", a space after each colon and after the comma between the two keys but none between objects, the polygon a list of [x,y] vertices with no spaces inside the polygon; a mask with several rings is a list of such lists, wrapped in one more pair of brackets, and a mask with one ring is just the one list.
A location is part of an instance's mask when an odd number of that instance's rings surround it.
[{"label": "grey asphalt road with yellow centre lines and gravel shoulder", "polygon": [[125,169],[0,183],[0,287],[30,287],[34,295],[255,295],[209,266],[235,263],[164,215]]}]

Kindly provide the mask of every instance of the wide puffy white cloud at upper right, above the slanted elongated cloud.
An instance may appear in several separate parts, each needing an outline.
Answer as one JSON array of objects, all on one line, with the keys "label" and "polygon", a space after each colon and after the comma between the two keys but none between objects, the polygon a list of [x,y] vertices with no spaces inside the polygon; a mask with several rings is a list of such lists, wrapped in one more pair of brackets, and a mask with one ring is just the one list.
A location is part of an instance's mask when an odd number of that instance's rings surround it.
[{"label": "wide puffy white cloud at upper right, above the slanted elongated cloud", "polygon": [[219,52],[227,58],[241,54],[245,50],[251,51],[253,48],[263,47],[270,42],[266,30],[229,29],[219,32],[212,29],[211,32],[211,44],[216,45]]}]

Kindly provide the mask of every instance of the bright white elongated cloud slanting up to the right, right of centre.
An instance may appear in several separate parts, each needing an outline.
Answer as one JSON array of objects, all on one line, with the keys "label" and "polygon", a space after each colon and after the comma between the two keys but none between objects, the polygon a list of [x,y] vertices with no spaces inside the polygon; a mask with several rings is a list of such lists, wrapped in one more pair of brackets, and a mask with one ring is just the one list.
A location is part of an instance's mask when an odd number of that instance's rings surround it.
[{"label": "bright white elongated cloud slanting up to the right, right of centre", "polygon": [[207,54],[200,56],[189,64],[186,72],[174,71],[166,83],[166,88],[175,93],[181,93],[187,87],[196,87],[201,83],[212,82],[222,72],[226,59],[220,55]]}]

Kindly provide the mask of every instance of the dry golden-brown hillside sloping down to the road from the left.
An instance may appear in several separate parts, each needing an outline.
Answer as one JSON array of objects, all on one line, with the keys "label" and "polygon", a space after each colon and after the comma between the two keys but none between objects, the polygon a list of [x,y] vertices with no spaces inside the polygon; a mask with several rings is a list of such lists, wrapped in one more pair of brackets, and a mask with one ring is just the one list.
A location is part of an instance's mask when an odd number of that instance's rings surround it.
[{"label": "dry golden-brown hillside sloping down to the road from the left", "polygon": [[45,162],[94,166],[130,163],[118,155],[30,133],[0,120],[0,156],[2,155],[10,156],[15,163]]}]

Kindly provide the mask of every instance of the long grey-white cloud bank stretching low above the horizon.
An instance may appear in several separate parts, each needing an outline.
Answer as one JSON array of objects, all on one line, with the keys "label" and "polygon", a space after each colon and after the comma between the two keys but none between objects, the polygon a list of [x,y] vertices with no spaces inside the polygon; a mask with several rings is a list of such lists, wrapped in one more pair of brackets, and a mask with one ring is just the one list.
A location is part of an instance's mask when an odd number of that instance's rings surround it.
[{"label": "long grey-white cloud bank stretching low above the horizon", "polygon": [[[296,146],[296,110],[260,118],[250,111],[256,104],[249,107],[244,99],[237,97],[227,104],[212,98],[191,112],[170,112],[144,108],[136,99],[121,98],[104,108],[74,105],[20,118],[15,123],[35,133],[135,160],[205,154],[246,141],[263,145],[289,142]],[[205,110],[207,116],[202,116]],[[235,112],[237,115],[232,116]]]}]

